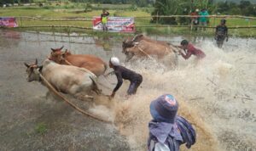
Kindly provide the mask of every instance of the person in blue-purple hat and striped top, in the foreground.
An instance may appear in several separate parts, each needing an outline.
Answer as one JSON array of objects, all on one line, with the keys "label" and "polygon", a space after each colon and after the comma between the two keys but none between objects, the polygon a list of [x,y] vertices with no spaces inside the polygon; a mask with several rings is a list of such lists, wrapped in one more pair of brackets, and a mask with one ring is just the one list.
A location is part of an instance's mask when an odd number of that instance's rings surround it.
[{"label": "person in blue-purple hat and striped top, in the foreground", "polygon": [[148,123],[148,151],[179,151],[183,143],[187,148],[195,143],[194,128],[177,115],[177,109],[177,100],[171,94],[161,95],[150,103],[153,120]]}]

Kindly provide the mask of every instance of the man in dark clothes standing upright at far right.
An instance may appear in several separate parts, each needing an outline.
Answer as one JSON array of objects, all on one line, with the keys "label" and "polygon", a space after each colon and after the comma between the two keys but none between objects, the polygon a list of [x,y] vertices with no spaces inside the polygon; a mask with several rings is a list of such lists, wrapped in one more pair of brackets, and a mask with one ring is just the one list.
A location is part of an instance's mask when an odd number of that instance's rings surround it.
[{"label": "man in dark clothes standing upright at far right", "polygon": [[216,27],[214,39],[217,42],[218,48],[222,48],[225,38],[226,38],[226,42],[228,42],[228,39],[229,39],[228,28],[225,24],[226,24],[226,20],[222,19],[220,21],[220,25]]}]

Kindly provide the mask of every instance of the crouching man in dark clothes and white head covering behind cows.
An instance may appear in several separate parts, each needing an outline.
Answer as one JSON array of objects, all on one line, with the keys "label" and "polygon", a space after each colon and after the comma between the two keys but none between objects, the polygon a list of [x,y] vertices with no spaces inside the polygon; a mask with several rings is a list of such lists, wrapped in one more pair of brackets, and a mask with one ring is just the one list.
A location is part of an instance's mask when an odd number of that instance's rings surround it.
[{"label": "crouching man in dark clothes and white head covering behind cows", "polygon": [[119,87],[123,84],[123,79],[131,82],[130,87],[127,91],[128,95],[135,94],[137,92],[137,87],[143,82],[143,76],[137,74],[132,70],[128,70],[125,67],[119,65],[119,59],[116,57],[112,57],[109,60],[109,67],[113,68],[114,74],[117,77],[118,83],[116,87],[114,87],[113,92],[111,94],[111,98],[114,97],[115,92],[119,90]]}]

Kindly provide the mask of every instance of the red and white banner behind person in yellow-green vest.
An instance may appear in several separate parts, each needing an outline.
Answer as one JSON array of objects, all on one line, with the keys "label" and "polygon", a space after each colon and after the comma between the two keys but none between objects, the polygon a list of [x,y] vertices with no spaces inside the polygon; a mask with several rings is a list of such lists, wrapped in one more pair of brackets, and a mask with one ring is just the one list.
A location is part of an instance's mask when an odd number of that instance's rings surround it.
[{"label": "red and white banner behind person in yellow-green vest", "polygon": [[[135,32],[133,17],[108,17],[108,31],[110,32]],[[102,31],[101,17],[93,17],[93,30]]]}]

